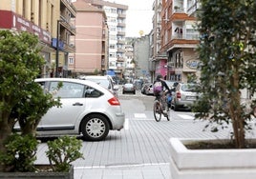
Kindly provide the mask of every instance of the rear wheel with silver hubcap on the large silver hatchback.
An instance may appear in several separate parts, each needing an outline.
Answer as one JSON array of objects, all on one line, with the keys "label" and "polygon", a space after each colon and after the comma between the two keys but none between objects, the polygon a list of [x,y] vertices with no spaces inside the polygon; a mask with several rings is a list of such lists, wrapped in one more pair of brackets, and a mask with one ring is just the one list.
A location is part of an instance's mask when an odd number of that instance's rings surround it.
[{"label": "rear wheel with silver hubcap on the large silver hatchback", "polygon": [[81,131],[85,140],[100,141],[109,133],[109,123],[106,117],[100,114],[91,114],[81,123]]}]

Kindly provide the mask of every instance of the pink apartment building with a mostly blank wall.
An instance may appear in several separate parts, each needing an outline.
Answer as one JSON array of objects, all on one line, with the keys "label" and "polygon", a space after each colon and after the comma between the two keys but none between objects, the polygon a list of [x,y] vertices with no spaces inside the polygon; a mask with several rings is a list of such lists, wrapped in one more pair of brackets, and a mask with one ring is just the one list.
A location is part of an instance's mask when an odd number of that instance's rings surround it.
[{"label": "pink apartment building with a mostly blank wall", "polygon": [[75,75],[106,74],[108,69],[106,13],[84,0],[77,0],[74,6],[76,9],[76,51],[69,56],[69,69]]}]

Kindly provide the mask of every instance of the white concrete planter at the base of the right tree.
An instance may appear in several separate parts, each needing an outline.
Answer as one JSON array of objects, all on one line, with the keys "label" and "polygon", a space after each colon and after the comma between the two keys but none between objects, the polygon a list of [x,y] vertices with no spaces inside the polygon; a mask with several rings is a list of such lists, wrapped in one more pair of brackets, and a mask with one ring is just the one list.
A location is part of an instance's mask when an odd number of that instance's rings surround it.
[{"label": "white concrete planter at the base of the right tree", "polygon": [[256,178],[256,149],[186,149],[184,146],[195,141],[209,140],[170,139],[170,179]]}]

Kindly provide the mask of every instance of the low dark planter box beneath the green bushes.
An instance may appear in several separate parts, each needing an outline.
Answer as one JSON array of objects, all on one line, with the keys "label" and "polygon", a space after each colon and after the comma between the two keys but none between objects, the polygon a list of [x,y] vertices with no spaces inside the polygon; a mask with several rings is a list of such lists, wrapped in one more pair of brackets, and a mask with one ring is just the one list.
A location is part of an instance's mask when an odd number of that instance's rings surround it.
[{"label": "low dark planter box beneath the green bushes", "polygon": [[[38,168],[45,168],[45,165],[36,165]],[[71,166],[69,172],[53,172],[53,171],[42,171],[42,172],[0,172],[0,178],[11,178],[11,179],[74,179],[74,167]]]}]

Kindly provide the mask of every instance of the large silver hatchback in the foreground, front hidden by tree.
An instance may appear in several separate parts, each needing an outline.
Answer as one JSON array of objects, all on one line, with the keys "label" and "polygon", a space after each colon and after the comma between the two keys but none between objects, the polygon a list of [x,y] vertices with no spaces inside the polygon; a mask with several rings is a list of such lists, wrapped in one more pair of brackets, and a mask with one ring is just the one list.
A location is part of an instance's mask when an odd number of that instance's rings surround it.
[{"label": "large silver hatchback in the foreground, front hidden by tree", "polygon": [[[82,135],[85,140],[103,140],[109,130],[123,128],[125,114],[112,92],[90,80],[40,78],[39,83],[53,97],[60,97],[61,107],[53,107],[42,117],[39,137]],[[59,83],[61,89],[57,89]],[[18,126],[15,126],[18,129]]]}]

